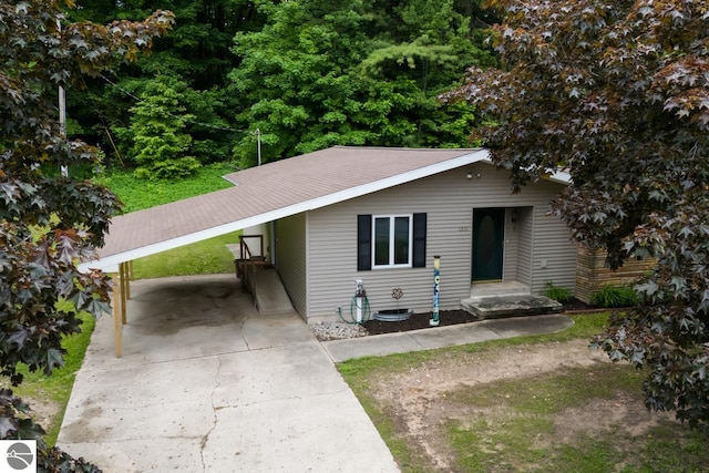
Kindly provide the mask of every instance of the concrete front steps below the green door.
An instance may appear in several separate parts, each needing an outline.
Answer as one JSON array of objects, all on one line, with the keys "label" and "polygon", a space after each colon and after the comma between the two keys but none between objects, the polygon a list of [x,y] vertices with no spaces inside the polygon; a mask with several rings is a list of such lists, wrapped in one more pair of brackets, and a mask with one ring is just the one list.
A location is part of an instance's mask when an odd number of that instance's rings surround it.
[{"label": "concrete front steps below the green door", "polygon": [[513,281],[473,285],[461,308],[481,319],[499,319],[557,313],[563,306],[548,297],[533,296],[528,286]]}]

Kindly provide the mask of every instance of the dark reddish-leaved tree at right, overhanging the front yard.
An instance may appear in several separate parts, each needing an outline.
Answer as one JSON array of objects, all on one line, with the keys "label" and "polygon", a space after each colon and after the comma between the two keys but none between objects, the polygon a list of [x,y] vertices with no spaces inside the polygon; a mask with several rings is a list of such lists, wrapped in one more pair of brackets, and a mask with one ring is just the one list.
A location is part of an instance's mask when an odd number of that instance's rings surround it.
[{"label": "dark reddish-leaved tree at right, overhanging the front yard", "polygon": [[564,166],[554,203],[617,267],[654,256],[596,343],[647,369],[646,404],[709,425],[709,3],[491,0],[501,68],[449,100],[490,120],[474,135],[514,185]]}]

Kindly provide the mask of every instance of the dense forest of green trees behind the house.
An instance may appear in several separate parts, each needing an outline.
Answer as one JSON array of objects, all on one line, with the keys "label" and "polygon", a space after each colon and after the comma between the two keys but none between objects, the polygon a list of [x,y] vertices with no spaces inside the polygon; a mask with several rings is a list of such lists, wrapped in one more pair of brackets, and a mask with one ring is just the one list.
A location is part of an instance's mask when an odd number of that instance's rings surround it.
[{"label": "dense forest of green trees behind the house", "polygon": [[494,64],[494,18],[476,0],[80,0],[66,14],[109,23],[156,9],[175,27],[153,54],[68,97],[70,135],[144,177],[254,165],[257,135],[264,162],[332,145],[469,146],[473,110],[438,95]]}]

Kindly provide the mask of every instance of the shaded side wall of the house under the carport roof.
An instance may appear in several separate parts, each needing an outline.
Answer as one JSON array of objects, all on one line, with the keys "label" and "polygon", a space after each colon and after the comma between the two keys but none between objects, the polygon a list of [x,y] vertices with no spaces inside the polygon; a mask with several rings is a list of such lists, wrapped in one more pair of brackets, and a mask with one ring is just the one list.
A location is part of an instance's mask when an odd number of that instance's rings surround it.
[{"label": "shaded side wall of the house under the carport roof", "polygon": [[276,268],[294,307],[304,318],[308,313],[307,214],[276,222]]}]

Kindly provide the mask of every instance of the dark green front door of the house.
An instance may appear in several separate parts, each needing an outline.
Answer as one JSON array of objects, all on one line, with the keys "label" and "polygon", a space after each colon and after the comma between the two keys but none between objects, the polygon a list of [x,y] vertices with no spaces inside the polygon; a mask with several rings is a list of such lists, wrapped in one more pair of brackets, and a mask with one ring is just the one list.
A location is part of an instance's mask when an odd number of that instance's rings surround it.
[{"label": "dark green front door of the house", "polygon": [[505,209],[473,210],[473,281],[502,280]]}]

